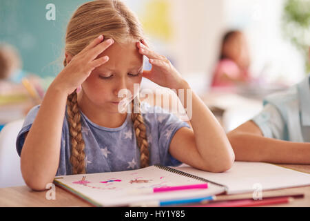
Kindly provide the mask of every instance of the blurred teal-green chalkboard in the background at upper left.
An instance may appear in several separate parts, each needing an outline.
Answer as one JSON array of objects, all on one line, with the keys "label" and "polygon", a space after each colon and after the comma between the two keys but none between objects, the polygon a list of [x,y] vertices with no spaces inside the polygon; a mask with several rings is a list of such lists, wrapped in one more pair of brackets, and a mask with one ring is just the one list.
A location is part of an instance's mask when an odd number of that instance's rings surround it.
[{"label": "blurred teal-green chalkboard in the background at upper left", "polygon": [[[0,0],[0,43],[15,46],[23,69],[54,77],[64,58],[65,29],[74,10],[85,0]],[[52,3],[55,20],[50,20]],[[48,19],[47,19],[48,14]]]}]

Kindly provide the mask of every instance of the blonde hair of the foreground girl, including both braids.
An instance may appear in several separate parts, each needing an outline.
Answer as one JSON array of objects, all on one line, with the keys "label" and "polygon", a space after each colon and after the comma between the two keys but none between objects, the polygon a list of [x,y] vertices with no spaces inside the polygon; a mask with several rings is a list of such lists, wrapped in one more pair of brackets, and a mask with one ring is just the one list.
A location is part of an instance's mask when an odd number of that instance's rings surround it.
[{"label": "blonde hair of the foreground girl, including both braids", "polygon": [[[118,0],[97,0],[84,3],[70,19],[65,37],[65,51],[77,55],[93,39],[103,35],[105,39],[114,39],[118,44],[128,41],[140,41],[144,38],[141,23],[134,13]],[[63,65],[67,65],[66,59]],[[132,110],[134,110],[132,102]],[[85,173],[85,143],[81,132],[81,113],[76,91],[68,96],[68,122],[71,140],[71,157],[73,174]],[[136,107],[137,108],[137,107]],[[138,148],[140,149],[141,168],[149,166],[149,150],[146,127],[141,113],[132,111],[132,122]]]}]

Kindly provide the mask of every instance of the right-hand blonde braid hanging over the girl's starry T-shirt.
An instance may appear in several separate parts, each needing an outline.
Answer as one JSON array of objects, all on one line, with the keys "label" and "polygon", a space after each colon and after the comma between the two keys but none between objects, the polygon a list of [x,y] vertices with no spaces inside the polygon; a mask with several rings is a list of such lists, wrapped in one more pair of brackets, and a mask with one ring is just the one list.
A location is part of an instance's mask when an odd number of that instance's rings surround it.
[{"label": "right-hand blonde braid hanging over the girl's starry T-shirt", "polygon": [[[146,127],[141,111],[134,113],[134,110],[138,108],[134,103],[135,102],[132,101],[132,122],[134,123],[134,133],[136,134],[138,148],[140,149],[140,165],[141,168],[144,168],[149,166],[149,144],[147,142]],[[138,106],[140,106],[140,102],[138,102]]]}]

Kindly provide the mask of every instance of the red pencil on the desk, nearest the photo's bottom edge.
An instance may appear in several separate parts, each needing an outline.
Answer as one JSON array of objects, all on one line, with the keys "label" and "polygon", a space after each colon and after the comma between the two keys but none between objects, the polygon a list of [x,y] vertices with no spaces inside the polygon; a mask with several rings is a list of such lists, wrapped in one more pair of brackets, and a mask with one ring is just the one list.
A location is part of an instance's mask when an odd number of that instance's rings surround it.
[{"label": "red pencil on the desk, nearest the photo's bottom edge", "polygon": [[267,206],[271,204],[289,203],[293,198],[269,198],[266,200],[234,200],[227,202],[211,202],[209,204],[199,204],[190,207],[250,207],[250,206]]}]

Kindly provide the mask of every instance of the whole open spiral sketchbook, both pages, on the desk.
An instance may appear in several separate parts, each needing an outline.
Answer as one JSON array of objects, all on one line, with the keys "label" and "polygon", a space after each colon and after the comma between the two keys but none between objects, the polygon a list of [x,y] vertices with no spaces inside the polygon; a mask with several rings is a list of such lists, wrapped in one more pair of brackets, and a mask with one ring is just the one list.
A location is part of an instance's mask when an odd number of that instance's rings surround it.
[{"label": "whole open spiral sketchbook, both pages, on the desk", "polygon": [[[136,194],[131,190],[208,184],[207,189]],[[225,173],[209,173],[183,164],[178,167],[149,166],[134,171],[67,175],[54,183],[78,195],[94,206],[130,206],[154,200],[200,198],[220,193],[254,193],[309,186],[310,174],[260,162],[234,162]]]}]

